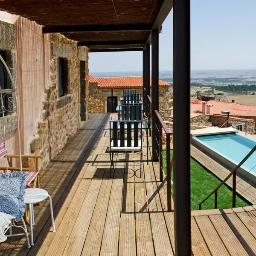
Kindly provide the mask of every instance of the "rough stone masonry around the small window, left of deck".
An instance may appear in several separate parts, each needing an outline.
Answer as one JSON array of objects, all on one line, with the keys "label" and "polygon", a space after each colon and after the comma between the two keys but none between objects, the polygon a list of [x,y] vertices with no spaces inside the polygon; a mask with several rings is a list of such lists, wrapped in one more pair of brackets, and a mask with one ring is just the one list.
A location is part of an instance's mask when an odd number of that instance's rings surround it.
[{"label": "rough stone masonry around the small window, left of deck", "polygon": [[[44,157],[42,167],[57,156],[79,129],[80,109],[80,77],[79,55],[84,55],[88,61],[88,50],[79,48],[75,41],[60,34],[51,35],[51,83],[46,86],[42,102],[41,120],[37,123],[37,134],[30,144],[31,153],[49,152],[49,158]],[[69,92],[59,97],[58,93],[58,58],[68,60]],[[80,57],[81,59],[81,57]],[[88,62],[87,62],[88,64]],[[88,71],[86,71],[88,80]]]}]

